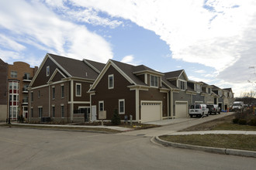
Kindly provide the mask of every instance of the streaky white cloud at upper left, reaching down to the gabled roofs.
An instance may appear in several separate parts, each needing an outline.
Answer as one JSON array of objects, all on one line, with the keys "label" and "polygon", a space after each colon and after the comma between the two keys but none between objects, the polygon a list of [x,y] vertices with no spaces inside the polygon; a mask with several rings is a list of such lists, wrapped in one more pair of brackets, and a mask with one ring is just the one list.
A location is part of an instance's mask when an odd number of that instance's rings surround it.
[{"label": "streaky white cloud at upper left, reaching down to the gabled roofs", "polygon": [[[5,35],[6,39],[16,37],[12,39],[16,45],[19,44],[18,41],[22,41],[23,44],[29,43],[30,46],[50,53],[76,59],[94,59],[103,63],[112,58],[109,42],[94,32],[89,32],[85,26],[60,19],[38,1],[1,1],[0,21],[0,29],[12,32]],[[17,50],[15,53],[19,53]]]}]

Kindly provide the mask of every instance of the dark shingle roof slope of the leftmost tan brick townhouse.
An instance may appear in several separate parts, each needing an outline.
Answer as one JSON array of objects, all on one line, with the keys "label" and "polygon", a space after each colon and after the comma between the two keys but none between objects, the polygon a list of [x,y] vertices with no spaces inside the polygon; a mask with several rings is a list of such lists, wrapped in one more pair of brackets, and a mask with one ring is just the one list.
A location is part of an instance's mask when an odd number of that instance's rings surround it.
[{"label": "dark shingle roof slope of the leftmost tan brick townhouse", "polygon": [[92,70],[92,68],[85,64],[82,60],[71,59],[67,58],[66,56],[57,56],[50,53],[48,53],[48,55],[59,63],[71,76],[92,80],[95,80],[97,76],[99,76],[99,73]]}]

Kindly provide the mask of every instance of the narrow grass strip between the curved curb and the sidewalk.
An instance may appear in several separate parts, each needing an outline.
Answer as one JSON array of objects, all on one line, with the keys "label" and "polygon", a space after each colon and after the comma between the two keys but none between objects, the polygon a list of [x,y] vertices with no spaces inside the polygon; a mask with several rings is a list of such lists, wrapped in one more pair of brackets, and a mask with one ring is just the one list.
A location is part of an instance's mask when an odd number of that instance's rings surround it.
[{"label": "narrow grass strip between the curved curb and the sidewalk", "polygon": [[246,134],[191,134],[164,135],[159,137],[164,141],[200,145],[215,148],[234,148],[256,151],[256,135]]}]

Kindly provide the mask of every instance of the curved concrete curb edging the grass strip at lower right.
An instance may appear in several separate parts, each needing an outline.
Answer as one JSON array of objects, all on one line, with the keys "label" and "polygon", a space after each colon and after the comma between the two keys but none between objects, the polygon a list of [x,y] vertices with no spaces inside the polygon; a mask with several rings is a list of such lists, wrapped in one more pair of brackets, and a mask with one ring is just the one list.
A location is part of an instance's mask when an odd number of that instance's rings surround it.
[{"label": "curved concrete curb edging the grass strip at lower right", "polygon": [[237,155],[237,156],[246,156],[246,157],[256,158],[256,151],[246,151],[246,150],[230,149],[230,148],[213,148],[213,147],[206,147],[206,146],[180,144],[180,143],[161,140],[161,138],[159,138],[158,136],[154,137],[154,140],[164,146],[186,148],[186,149],[192,149],[192,150],[198,150],[198,151],[208,151],[208,152],[218,153],[223,155]]}]

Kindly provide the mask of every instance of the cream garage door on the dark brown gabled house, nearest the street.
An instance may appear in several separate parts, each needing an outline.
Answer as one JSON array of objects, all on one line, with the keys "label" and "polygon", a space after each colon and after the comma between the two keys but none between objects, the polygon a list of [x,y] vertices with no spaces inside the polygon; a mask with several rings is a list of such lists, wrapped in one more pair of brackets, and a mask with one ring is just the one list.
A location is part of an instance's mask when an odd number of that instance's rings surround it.
[{"label": "cream garage door on the dark brown gabled house, nearest the street", "polygon": [[161,102],[142,102],[141,103],[141,122],[160,121]]}]

